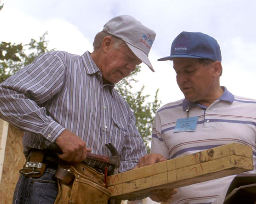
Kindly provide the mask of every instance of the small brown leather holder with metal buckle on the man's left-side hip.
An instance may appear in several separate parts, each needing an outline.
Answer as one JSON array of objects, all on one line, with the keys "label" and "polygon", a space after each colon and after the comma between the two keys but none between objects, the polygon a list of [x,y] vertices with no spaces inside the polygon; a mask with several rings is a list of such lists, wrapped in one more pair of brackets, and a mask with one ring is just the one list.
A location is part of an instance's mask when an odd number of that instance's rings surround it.
[{"label": "small brown leather holder with metal buckle on the man's left-side hip", "polygon": [[45,152],[42,150],[32,149],[23,168],[19,171],[26,177],[40,177],[45,171],[46,164],[42,163]]}]

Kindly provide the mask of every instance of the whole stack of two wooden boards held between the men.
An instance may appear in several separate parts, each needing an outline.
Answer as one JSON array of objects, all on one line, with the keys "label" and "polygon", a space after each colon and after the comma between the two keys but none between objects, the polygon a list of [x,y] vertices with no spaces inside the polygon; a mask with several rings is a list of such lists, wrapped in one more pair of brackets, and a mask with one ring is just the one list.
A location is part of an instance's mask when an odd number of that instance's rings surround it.
[{"label": "whole stack of two wooden boards held between the men", "polygon": [[153,189],[178,188],[250,170],[252,148],[232,143],[109,176],[107,188],[111,197],[126,200]]}]

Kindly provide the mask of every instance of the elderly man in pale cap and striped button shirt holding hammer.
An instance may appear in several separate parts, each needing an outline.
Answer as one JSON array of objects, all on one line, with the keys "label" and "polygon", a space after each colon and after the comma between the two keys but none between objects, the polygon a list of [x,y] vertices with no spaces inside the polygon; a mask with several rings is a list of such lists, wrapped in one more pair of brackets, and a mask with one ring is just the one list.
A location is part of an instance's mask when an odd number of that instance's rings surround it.
[{"label": "elderly man in pale cap and striped button shirt holding hammer", "polygon": [[[80,162],[88,151],[110,156],[108,143],[120,153],[119,172],[165,160],[160,154],[146,155],[135,116],[114,89],[141,62],[154,71],[148,59],[154,39],[155,32],[135,18],[117,16],[95,36],[92,53],[42,54],[0,85],[0,117],[25,131],[27,161],[14,204],[107,203],[105,164]],[[45,141],[57,144],[62,154],[41,151]],[[158,190],[151,198],[166,201],[175,192]]]}]

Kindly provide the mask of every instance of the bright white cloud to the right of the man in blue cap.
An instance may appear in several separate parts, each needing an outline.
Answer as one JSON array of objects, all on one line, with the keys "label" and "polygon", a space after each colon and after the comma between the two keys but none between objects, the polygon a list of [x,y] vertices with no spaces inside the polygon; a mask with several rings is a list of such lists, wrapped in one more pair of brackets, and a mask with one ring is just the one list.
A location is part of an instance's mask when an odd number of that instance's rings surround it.
[{"label": "bright white cloud to the right of the man in blue cap", "polygon": [[223,47],[221,84],[235,95],[256,99],[256,42],[235,36]]}]

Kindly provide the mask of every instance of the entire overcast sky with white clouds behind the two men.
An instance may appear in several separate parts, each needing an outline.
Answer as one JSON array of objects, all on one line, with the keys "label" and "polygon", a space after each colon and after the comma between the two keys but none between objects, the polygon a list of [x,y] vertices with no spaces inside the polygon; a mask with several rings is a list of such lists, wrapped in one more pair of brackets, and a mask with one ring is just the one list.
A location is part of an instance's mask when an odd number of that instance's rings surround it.
[{"label": "entire overcast sky with white clouds behind the two men", "polygon": [[183,98],[170,54],[182,31],[214,37],[222,52],[221,85],[234,95],[256,99],[256,1],[253,0],[1,0],[0,42],[23,43],[48,31],[49,48],[82,55],[92,52],[97,32],[112,17],[128,14],[156,32],[150,51],[152,73],[142,65],[138,76],[145,93],[159,88],[162,105]]}]

